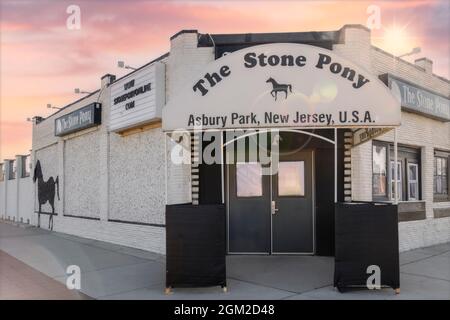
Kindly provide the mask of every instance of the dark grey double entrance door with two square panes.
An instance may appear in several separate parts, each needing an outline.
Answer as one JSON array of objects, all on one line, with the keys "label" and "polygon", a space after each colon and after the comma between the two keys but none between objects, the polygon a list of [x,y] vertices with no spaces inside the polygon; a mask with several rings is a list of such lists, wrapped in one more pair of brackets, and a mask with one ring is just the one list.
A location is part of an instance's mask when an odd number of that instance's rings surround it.
[{"label": "dark grey double entrance door with two square panes", "polygon": [[314,254],[313,152],[272,164],[228,165],[228,252]]}]

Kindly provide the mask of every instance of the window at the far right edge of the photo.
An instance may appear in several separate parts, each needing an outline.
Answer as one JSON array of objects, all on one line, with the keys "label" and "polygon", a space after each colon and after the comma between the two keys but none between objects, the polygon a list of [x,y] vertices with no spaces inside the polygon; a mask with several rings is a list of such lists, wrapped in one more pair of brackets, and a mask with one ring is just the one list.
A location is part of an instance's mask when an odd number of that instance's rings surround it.
[{"label": "window at the far right edge of the photo", "polygon": [[435,152],[434,157],[434,198],[435,200],[450,200],[449,197],[449,157],[450,153]]}]

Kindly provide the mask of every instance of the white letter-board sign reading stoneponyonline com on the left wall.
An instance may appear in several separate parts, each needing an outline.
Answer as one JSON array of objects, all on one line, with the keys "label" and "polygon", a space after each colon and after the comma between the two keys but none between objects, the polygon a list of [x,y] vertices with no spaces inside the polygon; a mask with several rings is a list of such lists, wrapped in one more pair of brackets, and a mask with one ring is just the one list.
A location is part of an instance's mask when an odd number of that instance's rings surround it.
[{"label": "white letter-board sign reading stoneponyonline com on the left wall", "polygon": [[165,66],[156,62],[111,85],[110,130],[125,129],[161,119],[165,102]]}]

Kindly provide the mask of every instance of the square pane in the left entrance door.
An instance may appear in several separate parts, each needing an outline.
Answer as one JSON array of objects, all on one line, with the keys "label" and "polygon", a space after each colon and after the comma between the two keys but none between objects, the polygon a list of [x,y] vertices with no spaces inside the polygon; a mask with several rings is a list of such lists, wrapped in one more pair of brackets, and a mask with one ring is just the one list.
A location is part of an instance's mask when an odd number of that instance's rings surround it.
[{"label": "square pane in the left entrance door", "polygon": [[262,168],[257,162],[236,164],[236,193],[238,197],[262,196]]}]

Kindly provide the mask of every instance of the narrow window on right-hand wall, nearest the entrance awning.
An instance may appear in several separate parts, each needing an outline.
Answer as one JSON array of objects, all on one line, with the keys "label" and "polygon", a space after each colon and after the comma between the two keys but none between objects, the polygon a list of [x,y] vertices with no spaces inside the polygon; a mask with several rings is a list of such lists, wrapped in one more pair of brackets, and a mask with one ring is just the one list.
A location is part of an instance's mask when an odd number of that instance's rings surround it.
[{"label": "narrow window on right-hand wall, nearest the entrance awning", "polygon": [[384,145],[373,145],[372,190],[374,197],[387,196],[387,148]]}]

